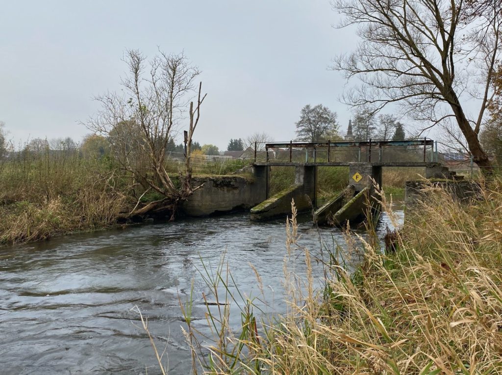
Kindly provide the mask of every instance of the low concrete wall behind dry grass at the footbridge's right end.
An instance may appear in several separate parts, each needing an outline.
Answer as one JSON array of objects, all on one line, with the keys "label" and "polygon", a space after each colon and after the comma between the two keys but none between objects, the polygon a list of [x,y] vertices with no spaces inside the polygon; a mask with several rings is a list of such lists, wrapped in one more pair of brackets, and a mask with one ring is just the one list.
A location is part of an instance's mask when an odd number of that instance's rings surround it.
[{"label": "low concrete wall behind dry grass at the footbridge's right end", "polygon": [[[480,194],[480,187],[476,181],[469,180],[446,180],[431,179],[429,181],[413,180],[406,181],[405,203],[407,207],[413,207],[427,199],[430,188],[441,188],[449,192],[453,199],[462,203],[469,203]],[[424,191],[425,190],[425,191]]]}]

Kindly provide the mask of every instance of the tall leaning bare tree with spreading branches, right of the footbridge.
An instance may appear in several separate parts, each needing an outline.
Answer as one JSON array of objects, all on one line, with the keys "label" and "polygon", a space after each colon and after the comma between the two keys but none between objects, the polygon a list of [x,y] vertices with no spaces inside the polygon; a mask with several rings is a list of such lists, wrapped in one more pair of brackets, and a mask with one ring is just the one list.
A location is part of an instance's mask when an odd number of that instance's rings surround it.
[{"label": "tall leaning bare tree with spreading branches, right of the footbridge", "polygon": [[[428,121],[428,128],[454,118],[474,161],[490,173],[478,134],[493,92],[502,11],[498,1],[483,1],[482,10],[473,8],[477,3],[333,0],[333,8],[345,15],[340,27],[356,25],[361,38],[354,52],[334,60],[333,68],[362,82],[345,97],[351,105],[371,104],[378,111],[397,102],[405,114]],[[462,104],[468,91],[479,99],[472,119]]]}]

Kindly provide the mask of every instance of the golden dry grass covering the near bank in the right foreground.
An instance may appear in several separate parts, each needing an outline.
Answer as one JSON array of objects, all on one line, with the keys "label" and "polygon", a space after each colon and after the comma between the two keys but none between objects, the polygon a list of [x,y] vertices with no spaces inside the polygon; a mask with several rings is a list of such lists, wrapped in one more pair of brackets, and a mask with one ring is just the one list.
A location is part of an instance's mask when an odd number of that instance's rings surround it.
[{"label": "golden dry grass covering the near bank in the right foreground", "polygon": [[[336,249],[314,259],[293,215],[284,266],[288,312],[258,318],[257,300],[236,293],[221,265],[217,276],[206,277],[209,299],[221,304],[207,311],[209,355],[184,305],[194,364],[218,374],[502,373],[501,191],[502,182],[495,181],[479,202],[461,206],[431,188],[390,254],[370,234],[359,242],[347,232],[345,254],[365,254],[355,272],[337,261]],[[385,199],[384,207],[390,210]],[[295,273],[298,261],[307,266],[304,277]],[[320,289],[314,261],[324,264]],[[236,300],[241,325],[230,327],[228,304]]]}]

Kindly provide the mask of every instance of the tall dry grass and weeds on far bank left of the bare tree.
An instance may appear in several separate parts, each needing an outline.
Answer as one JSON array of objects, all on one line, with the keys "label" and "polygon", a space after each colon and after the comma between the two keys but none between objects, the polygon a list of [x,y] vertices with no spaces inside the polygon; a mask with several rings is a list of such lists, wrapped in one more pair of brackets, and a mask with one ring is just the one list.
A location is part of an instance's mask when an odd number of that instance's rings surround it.
[{"label": "tall dry grass and weeds on far bank left of the bare tree", "polygon": [[0,245],[115,224],[132,204],[108,158],[19,152],[0,163]]}]

